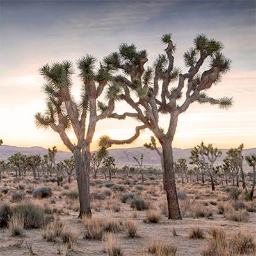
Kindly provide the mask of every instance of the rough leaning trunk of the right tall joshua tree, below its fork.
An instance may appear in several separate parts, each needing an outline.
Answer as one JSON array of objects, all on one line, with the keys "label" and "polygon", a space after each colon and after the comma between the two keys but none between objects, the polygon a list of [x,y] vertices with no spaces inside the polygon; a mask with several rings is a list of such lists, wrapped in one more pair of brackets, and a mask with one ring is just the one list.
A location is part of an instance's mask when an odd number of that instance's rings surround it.
[{"label": "rough leaning trunk of the right tall joshua tree, below its fork", "polygon": [[164,177],[166,185],[166,197],[168,202],[168,218],[181,220],[179,202],[175,184],[172,145],[170,141],[161,141],[163,148]]}]

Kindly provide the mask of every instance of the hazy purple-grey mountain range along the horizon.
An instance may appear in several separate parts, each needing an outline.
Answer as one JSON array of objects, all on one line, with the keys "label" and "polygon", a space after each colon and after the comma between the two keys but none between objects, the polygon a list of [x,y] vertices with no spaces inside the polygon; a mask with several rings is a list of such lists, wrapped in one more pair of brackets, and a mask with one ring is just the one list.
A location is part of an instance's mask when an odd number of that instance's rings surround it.
[{"label": "hazy purple-grey mountain range along the horizon", "polygon": [[[177,161],[180,157],[183,157],[189,161],[191,148],[181,149],[181,148],[173,148],[173,157],[174,161]],[[223,154],[222,156],[216,161],[216,164],[221,164],[223,159],[226,156],[227,149],[221,149]],[[15,147],[15,146],[8,146],[2,145],[0,147],[0,160],[6,160],[8,157],[12,156],[13,154],[20,152],[26,155],[34,155],[40,154],[44,156],[47,154],[47,149],[43,147]],[[109,155],[115,157],[116,164],[118,166],[124,166],[125,164],[129,166],[135,166],[136,163],[134,162],[133,156],[140,157],[140,154],[143,154],[144,161],[143,163],[146,166],[159,166],[160,159],[157,153],[154,150],[149,150],[145,147],[136,147],[136,148],[115,148],[109,149]],[[256,148],[248,148],[244,149],[243,151],[244,156],[256,155]],[[62,161],[65,158],[72,156],[70,152],[65,151],[58,151],[56,155],[57,161]],[[244,161],[244,165],[245,161]]]}]

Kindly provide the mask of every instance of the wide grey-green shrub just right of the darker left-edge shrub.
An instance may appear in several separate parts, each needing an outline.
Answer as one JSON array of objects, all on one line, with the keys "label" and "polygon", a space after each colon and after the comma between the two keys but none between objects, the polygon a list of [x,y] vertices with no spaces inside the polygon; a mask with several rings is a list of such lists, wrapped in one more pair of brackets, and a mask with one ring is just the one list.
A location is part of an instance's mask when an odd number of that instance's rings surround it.
[{"label": "wide grey-green shrub just right of the darker left-edge shrub", "polygon": [[13,213],[18,214],[24,218],[24,228],[40,228],[45,223],[51,221],[44,214],[44,211],[38,205],[30,202],[24,202],[22,204],[15,205],[13,207]]}]

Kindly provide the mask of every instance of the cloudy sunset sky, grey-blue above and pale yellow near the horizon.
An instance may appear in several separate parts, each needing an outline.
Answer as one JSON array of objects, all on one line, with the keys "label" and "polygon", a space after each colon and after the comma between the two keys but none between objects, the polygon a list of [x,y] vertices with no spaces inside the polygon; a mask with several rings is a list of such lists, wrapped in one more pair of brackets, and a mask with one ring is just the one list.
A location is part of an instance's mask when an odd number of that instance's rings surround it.
[{"label": "cloudy sunset sky, grey-blue above and pale yellow near the horizon", "polygon": [[[193,104],[180,115],[174,147],[190,148],[204,141],[220,148],[256,147],[256,1],[0,1],[0,138],[6,145],[52,147],[67,150],[58,134],[36,129],[34,115],[45,109],[44,80],[38,69],[45,63],[77,59],[87,53],[100,61],[122,42],[147,49],[148,65],[163,53],[160,38],[172,33],[177,44],[175,66],[186,72],[183,53],[193,38],[205,33],[225,45],[232,68],[212,97],[232,96],[234,106]],[[99,62],[98,62],[99,63]],[[207,68],[207,67],[205,67]],[[75,70],[77,71],[77,70]],[[77,98],[81,81],[74,74]],[[118,113],[127,109],[123,103]],[[168,116],[161,116],[161,125]],[[92,149],[103,134],[129,138],[136,122],[102,120]],[[72,140],[74,134],[68,134]],[[130,145],[147,142],[150,131]]]}]

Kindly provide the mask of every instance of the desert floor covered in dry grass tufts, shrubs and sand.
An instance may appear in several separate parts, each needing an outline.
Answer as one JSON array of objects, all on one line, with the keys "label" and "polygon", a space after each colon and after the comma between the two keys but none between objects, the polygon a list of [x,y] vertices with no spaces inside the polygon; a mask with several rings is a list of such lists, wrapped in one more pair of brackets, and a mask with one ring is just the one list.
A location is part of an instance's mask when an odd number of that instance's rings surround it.
[{"label": "desert floor covered in dry grass tufts, shrubs and sand", "polygon": [[[26,255],[29,250],[45,256],[255,253],[255,199],[245,200],[232,186],[211,191],[210,182],[178,180],[183,220],[168,220],[161,175],[146,174],[144,179],[142,184],[139,175],[129,182],[125,175],[114,175],[111,186],[104,176],[92,179],[93,216],[79,220],[74,179],[58,186],[47,178],[33,183],[33,177],[17,180],[4,175],[9,190],[0,193],[0,255]],[[31,193],[45,187],[51,196]],[[228,254],[230,248],[233,254]]]}]

